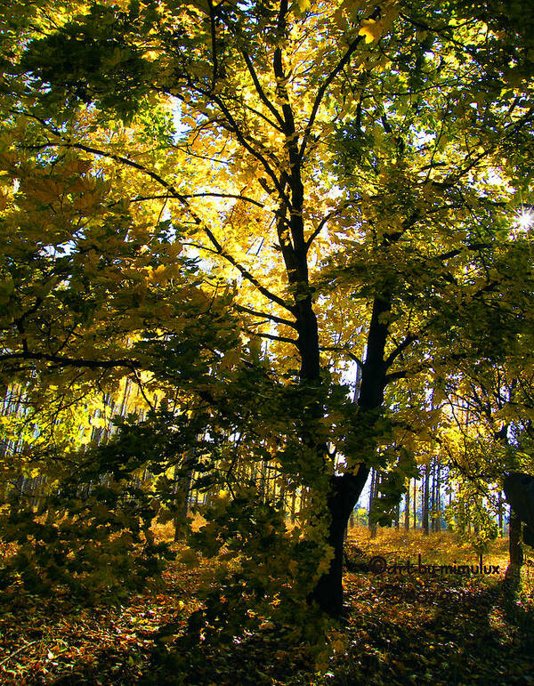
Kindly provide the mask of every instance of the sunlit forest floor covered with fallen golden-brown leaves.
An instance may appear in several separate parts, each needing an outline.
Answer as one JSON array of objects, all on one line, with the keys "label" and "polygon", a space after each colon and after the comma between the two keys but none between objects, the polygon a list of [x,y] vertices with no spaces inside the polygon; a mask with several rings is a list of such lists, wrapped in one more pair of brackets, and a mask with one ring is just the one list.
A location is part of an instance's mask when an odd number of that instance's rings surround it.
[{"label": "sunlit forest floor covered with fallen golden-brown leaves", "polygon": [[521,585],[506,582],[506,545],[498,540],[484,556],[490,574],[431,571],[479,561],[448,533],[381,529],[371,539],[352,529],[349,560],[375,558],[375,569],[346,572],[346,621],[334,631],[342,649],[319,670],[303,647],[272,633],[184,658],[160,627],[172,623],[179,634],[187,625],[201,569],[169,569],[159,593],[121,608],[13,596],[0,608],[0,683],[534,684],[534,561]]}]

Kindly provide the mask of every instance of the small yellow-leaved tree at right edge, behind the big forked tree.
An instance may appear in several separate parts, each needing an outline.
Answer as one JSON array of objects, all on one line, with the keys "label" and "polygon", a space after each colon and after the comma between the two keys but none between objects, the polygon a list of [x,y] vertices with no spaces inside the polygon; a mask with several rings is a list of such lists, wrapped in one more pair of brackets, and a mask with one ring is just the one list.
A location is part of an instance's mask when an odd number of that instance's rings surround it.
[{"label": "small yellow-leaved tree at right edge, behind the big forked tree", "polygon": [[[449,515],[463,535],[473,524],[475,544],[482,548],[498,529],[502,535],[506,475],[532,470],[530,348],[525,332],[499,364],[480,365],[476,375],[464,369],[447,384],[449,420],[442,422],[438,440],[457,484]],[[512,513],[510,522],[510,561],[515,564],[522,555],[521,526]]]}]

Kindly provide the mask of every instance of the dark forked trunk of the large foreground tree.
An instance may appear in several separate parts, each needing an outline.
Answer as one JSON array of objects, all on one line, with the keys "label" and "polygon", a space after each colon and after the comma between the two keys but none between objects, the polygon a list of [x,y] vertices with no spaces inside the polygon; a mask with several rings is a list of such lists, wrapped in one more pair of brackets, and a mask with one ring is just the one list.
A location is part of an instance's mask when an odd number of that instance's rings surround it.
[{"label": "dark forked trunk of the large foreground tree", "polygon": [[[280,38],[285,36],[286,30],[286,12],[280,12],[277,25]],[[321,428],[320,421],[324,417],[324,408],[319,399],[320,393],[317,393],[315,398],[313,397],[313,390],[319,391],[321,384],[320,341],[309,281],[307,261],[309,245],[304,232],[303,157],[299,133],[295,128],[294,112],[285,85],[287,74],[279,45],[273,52],[272,68],[278,82],[279,97],[283,101],[279,121],[281,133],[285,137],[284,145],[289,169],[287,176],[280,182],[277,234],[288,285],[294,289],[294,301],[290,310],[295,317],[296,347],[300,355],[299,380],[303,385],[304,394],[308,396],[303,402],[303,416],[307,420],[305,424],[308,428],[303,430],[301,440],[303,445],[315,453],[315,456],[319,458],[319,463],[322,463],[323,469],[328,473],[327,470],[330,468],[327,459],[328,447],[326,444],[320,444],[317,436],[320,436],[321,432],[315,432],[313,428],[315,422],[318,429]],[[384,242],[386,240],[391,241],[392,238],[384,238]],[[368,328],[367,355],[365,362],[361,365],[358,397],[361,424],[359,428],[364,430],[361,432],[362,435],[368,435],[371,438],[361,446],[358,451],[359,455],[348,456],[360,458],[354,459],[354,463],[349,464],[351,472],[330,477],[327,494],[328,512],[316,513],[318,518],[328,516],[327,542],[334,549],[334,558],[328,571],[320,577],[312,592],[312,597],[322,609],[331,614],[340,612],[343,607],[344,530],[352,508],[358,502],[361,489],[368,478],[368,466],[362,463],[361,456],[376,449],[373,429],[379,415],[377,410],[384,402],[387,369],[384,362],[384,350],[388,335],[388,318],[384,315],[389,313],[391,306],[389,296],[376,295]],[[358,471],[354,473],[352,469],[355,469],[357,464],[359,464]]]}]

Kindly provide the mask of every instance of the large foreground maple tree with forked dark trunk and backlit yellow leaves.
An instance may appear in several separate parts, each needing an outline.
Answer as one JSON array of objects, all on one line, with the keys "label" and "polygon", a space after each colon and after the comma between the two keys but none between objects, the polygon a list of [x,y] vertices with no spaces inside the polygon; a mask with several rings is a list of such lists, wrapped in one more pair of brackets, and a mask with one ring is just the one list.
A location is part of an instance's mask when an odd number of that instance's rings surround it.
[{"label": "large foreground maple tree with forked dark trunk and backlit yellow leaves", "polygon": [[[307,489],[312,597],[338,613],[344,529],[369,470],[384,472],[392,506],[414,475],[413,451],[438,421],[425,389],[440,389],[460,360],[476,370],[503,359],[528,326],[514,314],[528,311],[531,295],[528,235],[511,234],[510,224],[530,203],[532,11],[160,0],[14,3],[4,12],[13,17],[4,20],[7,177],[26,176],[33,189],[41,174],[49,194],[83,198],[83,212],[75,203],[69,209],[61,244],[49,241],[65,251],[53,273],[46,250],[43,266],[35,248],[7,262],[4,294],[18,308],[0,358],[7,372],[36,370],[43,387],[51,367],[67,375],[147,369],[154,388],[168,389],[184,361],[169,339],[196,342],[183,344],[212,367],[207,388],[195,383],[195,360],[184,353],[187,392],[209,408],[208,424],[230,413],[232,432],[258,413],[255,432],[267,434],[267,448],[254,432],[241,448],[261,452]],[[14,34],[24,36],[20,48]],[[56,174],[59,187],[51,184]],[[113,197],[104,200],[109,184]],[[24,197],[48,204],[49,230],[57,230],[61,213],[50,196],[38,199],[38,184],[13,192],[12,226],[35,231],[21,218]],[[84,235],[73,250],[76,213],[100,234]],[[108,239],[114,243],[104,249]],[[219,341],[213,308],[202,310],[202,327],[192,324],[206,296],[197,287],[189,287],[194,303],[185,312],[174,310],[180,293],[163,287],[150,291],[165,308],[158,322],[135,326],[129,305],[130,316],[117,318],[106,286],[109,270],[123,273],[115,251],[134,259],[134,271],[145,261],[156,286],[158,269],[180,281],[187,260],[200,256],[201,278],[216,270],[212,292],[226,294],[214,302],[239,317],[239,342]],[[24,304],[22,287],[10,281],[20,264],[28,270],[20,283],[34,289]],[[68,293],[93,294],[90,304],[88,296],[77,303],[61,295],[61,312],[79,311],[80,323],[55,324],[46,310],[53,303],[39,288],[53,284],[57,298],[53,278],[66,279]],[[123,303],[133,303],[139,286],[125,288]],[[85,324],[86,311],[98,313],[97,331]],[[135,304],[134,311],[139,317]],[[190,326],[182,328],[182,318]],[[126,351],[137,332],[134,357]],[[95,335],[130,343],[87,349]],[[259,341],[269,343],[263,356]],[[210,357],[213,350],[220,352]],[[346,379],[355,367],[351,393]],[[222,379],[231,390],[221,391]],[[254,388],[268,398],[263,411],[247,395]],[[234,510],[246,509],[239,497]]]}]

